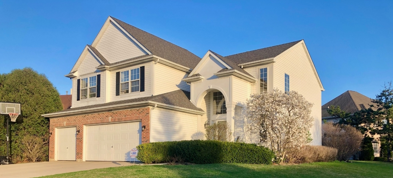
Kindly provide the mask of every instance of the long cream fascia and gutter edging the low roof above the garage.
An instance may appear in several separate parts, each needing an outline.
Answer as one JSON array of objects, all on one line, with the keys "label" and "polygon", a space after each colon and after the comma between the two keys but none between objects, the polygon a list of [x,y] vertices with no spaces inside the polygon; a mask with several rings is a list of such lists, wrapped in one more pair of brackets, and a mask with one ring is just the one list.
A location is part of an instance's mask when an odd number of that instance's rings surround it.
[{"label": "long cream fascia and gutter edging the low roof above the garage", "polygon": [[200,114],[200,115],[205,114],[205,112],[197,111],[197,110],[193,110],[193,109],[187,109],[184,107],[177,107],[177,106],[173,106],[173,105],[162,104],[162,103],[152,102],[152,101],[142,101],[142,102],[94,107],[94,108],[88,108],[88,109],[78,109],[78,110],[73,110],[73,111],[64,111],[64,112],[59,112],[59,113],[42,114],[41,116],[51,118],[51,117],[58,117],[58,116],[67,116],[67,115],[72,115],[72,114],[83,114],[83,113],[91,113],[91,112],[97,112],[97,111],[107,111],[108,109],[121,109],[121,108],[127,108],[127,107],[137,107],[137,106],[141,106],[141,105],[152,105],[153,106],[155,104],[157,104],[160,107],[167,108],[167,109],[174,109],[177,111],[183,111],[183,112]]}]

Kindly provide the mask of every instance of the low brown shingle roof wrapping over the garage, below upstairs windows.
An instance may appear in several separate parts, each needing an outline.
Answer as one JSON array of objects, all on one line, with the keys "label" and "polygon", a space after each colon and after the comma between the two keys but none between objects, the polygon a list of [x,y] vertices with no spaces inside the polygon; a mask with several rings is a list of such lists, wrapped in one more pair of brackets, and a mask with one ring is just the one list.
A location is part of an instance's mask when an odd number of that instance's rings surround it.
[{"label": "low brown shingle roof wrapping over the garage, below upstairs windows", "polygon": [[[168,105],[173,105],[177,107],[183,107],[186,109],[193,109],[196,111],[202,111],[202,109],[196,107],[194,104],[190,102],[190,93],[188,91],[184,90],[176,90],[176,91],[171,91],[169,93],[163,93],[163,94],[158,94],[156,96],[148,96],[148,97],[142,97],[142,98],[134,98],[134,99],[129,99],[129,100],[120,100],[116,102],[109,102],[105,104],[95,104],[95,105],[88,105],[88,106],[82,106],[82,107],[73,107],[70,109],[66,109],[63,111],[58,111],[55,113],[61,113],[61,112],[66,112],[66,111],[75,111],[75,110],[81,110],[81,109],[90,109],[90,108],[95,108],[95,107],[103,107],[103,106],[110,106],[110,105],[118,105],[118,104],[127,104],[127,103],[135,103],[135,102],[143,102],[143,101],[152,101],[152,102],[158,102],[162,104],[168,104]],[[53,114],[53,113],[51,113]]]}]

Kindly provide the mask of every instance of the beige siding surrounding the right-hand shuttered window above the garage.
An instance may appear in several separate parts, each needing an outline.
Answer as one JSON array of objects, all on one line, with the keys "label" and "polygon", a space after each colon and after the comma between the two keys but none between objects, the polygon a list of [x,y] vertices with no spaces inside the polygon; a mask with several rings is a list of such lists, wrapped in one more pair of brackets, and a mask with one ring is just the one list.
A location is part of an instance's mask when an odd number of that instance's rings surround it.
[{"label": "beige siding surrounding the right-hand shuttered window above the garage", "polygon": [[[133,65],[130,67],[125,67],[116,71],[110,71],[110,102],[151,96],[151,65],[151,62],[147,62],[143,64]],[[116,96],[116,72],[135,69],[141,66],[145,66],[145,91],[131,93],[130,90],[130,93],[120,94],[119,96]],[[129,88],[131,89],[131,84]]]}]

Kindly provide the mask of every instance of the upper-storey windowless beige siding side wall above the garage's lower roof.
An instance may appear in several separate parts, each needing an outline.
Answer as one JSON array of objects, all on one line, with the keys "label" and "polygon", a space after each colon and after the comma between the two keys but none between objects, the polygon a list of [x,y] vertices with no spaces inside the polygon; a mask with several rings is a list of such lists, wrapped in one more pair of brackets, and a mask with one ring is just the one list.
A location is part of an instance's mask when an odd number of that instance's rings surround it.
[{"label": "upper-storey windowless beige siding side wall above the garage's lower roof", "polygon": [[182,81],[188,73],[167,65],[154,64],[154,95],[168,93],[178,89],[190,91],[190,85]]}]

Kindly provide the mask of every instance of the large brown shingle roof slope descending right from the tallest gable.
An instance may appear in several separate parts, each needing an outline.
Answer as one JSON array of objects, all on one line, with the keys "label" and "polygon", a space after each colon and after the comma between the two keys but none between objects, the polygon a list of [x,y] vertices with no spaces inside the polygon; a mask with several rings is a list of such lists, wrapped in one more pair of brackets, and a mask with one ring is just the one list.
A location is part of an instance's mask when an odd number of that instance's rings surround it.
[{"label": "large brown shingle roof slope descending right from the tallest gable", "polygon": [[142,44],[147,50],[156,56],[160,56],[166,60],[174,62],[176,64],[184,65],[193,69],[200,58],[195,54],[191,53],[187,49],[184,49],[171,42],[165,41],[162,38],[147,33],[137,27],[127,24],[117,18],[110,16],[116,21],[125,31],[133,36],[140,44]]}]

